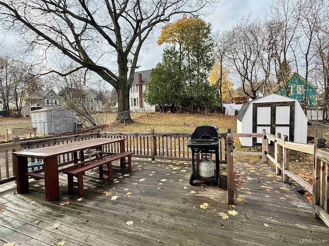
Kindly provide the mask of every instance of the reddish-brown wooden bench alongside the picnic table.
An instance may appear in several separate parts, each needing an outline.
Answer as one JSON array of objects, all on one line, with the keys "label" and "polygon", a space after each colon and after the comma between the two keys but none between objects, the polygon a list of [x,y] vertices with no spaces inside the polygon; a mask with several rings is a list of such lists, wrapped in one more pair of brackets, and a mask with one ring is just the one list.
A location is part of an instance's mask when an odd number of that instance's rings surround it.
[{"label": "reddish-brown wooden bench alongside the picnic table", "polygon": [[[103,152],[102,154],[108,154]],[[129,165],[129,171],[132,169],[132,154],[133,152],[121,152],[121,153],[115,153],[111,156],[107,156],[100,159],[94,159],[90,162],[87,162],[84,165],[77,165],[71,168],[68,168],[63,171],[64,174],[67,174],[67,184],[68,184],[68,193],[73,194],[74,193],[74,187],[78,187],[79,196],[81,196],[83,191],[83,175],[84,172],[93,169],[93,168],[99,168],[99,178],[103,179],[103,174],[106,173],[108,180],[112,179],[112,161],[122,159],[125,157],[128,157],[128,162],[123,162],[122,166],[126,163]],[[107,165],[107,172],[103,170],[103,165]],[[120,165],[121,167],[121,165]],[[77,177],[77,182],[74,181],[74,176]]]}]

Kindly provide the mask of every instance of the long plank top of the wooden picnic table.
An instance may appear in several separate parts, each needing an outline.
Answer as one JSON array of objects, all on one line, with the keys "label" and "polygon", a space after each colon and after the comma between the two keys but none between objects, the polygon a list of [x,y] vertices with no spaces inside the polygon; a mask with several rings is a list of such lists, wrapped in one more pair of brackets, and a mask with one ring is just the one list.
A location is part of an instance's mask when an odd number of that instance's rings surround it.
[{"label": "long plank top of the wooden picnic table", "polygon": [[31,150],[17,151],[13,152],[12,154],[16,156],[48,158],[80,150],[92,149],[98,146],[119,141],[124,141],[124,138],[93,138],[77,142],[69,142],[68,144],[63,145],[54,145]]}]

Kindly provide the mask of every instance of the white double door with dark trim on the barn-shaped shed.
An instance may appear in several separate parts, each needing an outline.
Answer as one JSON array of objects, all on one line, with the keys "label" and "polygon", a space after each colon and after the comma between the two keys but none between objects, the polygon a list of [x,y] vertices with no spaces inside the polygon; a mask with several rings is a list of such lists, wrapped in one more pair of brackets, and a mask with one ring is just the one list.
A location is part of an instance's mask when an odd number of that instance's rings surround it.
[{"label": "white double door with dark trim on the barn-shaped shed", "polygon": [[[267,133],[276,135],[279,132],[294,141],[295,101],[254,103],[252,111],[252,132],[261,133],[265,129]],[[261,142],[258,138],[257,143]]]}]

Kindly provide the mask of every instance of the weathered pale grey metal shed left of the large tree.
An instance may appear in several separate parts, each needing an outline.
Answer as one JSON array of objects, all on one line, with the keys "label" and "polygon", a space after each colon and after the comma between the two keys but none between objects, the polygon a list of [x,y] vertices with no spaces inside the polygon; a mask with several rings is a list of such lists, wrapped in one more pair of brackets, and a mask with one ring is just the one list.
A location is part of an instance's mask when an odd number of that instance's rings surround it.
[{"label": "weathered pale grey metal shed left of the large tree", "polygon": [[32,127],[36,134],[61,134],[76,130],[76,112],[64,107],[44,108],[31,111]]}]

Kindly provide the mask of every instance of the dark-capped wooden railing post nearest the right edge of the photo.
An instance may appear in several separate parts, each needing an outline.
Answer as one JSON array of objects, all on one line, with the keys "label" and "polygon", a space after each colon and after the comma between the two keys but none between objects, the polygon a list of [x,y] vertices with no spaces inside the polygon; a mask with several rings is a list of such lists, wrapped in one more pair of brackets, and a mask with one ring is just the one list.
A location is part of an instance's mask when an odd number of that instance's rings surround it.
[{"label": "dark-capped wooden railing post nearest the right edge of the photo", "polygon": [[323,137],[316,137],[315,139],[316,146],[314,147],[314,168],[313,168],[313,210],[312,214],[314,218],[320,218],[319,215],[316,213],[316,206],[321,206],[323,203],[321,198],[321,183],[322,183],[322,175],[321,171],[323,168],[323,161],[317,158],[318,156],[318,149],[325,147],[326,139]]}]

